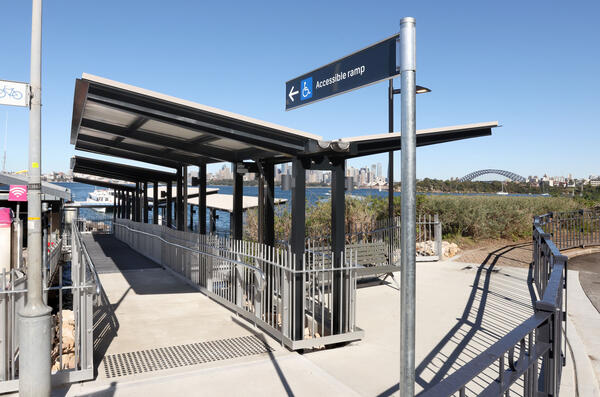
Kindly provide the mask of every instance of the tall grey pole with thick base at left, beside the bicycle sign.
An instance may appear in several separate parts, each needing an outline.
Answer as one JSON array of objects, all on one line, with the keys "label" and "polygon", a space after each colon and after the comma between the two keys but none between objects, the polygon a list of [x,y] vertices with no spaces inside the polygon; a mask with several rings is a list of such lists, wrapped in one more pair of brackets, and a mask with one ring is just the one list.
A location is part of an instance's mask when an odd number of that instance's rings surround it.
[{"label": "tall grey pole with thick base at left, beside the bicycle sign", "polygon": [[19,313],[19,395],[50,395],[50,308],[42,300],[42,0],[31,13],[27,304]]}]

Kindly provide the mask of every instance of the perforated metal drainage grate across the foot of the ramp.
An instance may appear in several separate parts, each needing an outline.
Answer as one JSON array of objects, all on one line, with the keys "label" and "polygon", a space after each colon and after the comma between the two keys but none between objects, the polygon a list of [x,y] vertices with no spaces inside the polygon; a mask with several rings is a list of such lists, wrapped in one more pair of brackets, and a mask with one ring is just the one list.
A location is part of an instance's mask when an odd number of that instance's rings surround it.
[{"label": "perforated metal drainage grate across the foot of the ramp", "polygon": [[170,347],[159,347],[104,357],[107,378],[159,371],[268,353],[273,349],[256,336],[220,339]]}]

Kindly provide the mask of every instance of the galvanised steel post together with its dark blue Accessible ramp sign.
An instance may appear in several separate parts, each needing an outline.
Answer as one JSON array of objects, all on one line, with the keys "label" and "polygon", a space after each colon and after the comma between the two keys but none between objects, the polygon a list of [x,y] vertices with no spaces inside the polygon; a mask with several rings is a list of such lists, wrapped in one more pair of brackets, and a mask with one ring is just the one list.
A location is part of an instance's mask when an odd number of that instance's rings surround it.
[{"label": "galvanised steel post together with its dark blue Accessible ramp sign", "polygon": [[[295,109],[402,74],[402,223],[400,288],[400,396],[415,393],[415,238],[416,238],[416,106],[415,19],[400,20],[400,34],[285,83],[285,110]],[[396,43],[400,42],[400,67]],[[389,88],[390,132],[393,130],[393,85]],[[390,155],[390,216],[393,210],[393,154]],[[295,202],[295,200],[293,200]]]}]

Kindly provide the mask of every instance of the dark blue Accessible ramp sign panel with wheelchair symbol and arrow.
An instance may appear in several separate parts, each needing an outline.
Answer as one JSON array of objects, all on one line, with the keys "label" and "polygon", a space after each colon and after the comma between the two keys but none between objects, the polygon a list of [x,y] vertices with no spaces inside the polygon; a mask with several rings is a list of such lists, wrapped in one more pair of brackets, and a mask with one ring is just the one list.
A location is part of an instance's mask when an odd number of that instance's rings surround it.
[{"label": "dark blue Accessible ramp sign panel with wheelchair symbol and arrow", "polygon": [[285,83],[285,110],[397,77],[394,35]]}]

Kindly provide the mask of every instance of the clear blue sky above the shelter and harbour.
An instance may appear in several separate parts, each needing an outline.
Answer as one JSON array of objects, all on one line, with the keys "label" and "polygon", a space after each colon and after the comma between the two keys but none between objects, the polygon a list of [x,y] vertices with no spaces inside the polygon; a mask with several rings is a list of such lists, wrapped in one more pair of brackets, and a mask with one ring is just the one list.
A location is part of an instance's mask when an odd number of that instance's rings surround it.
[{"label": "clear blue sky above the shelter and harbour", "polygon": [[[31,2],[3,0],[0,15],[0,79],[28,81]],[[75,153],[73,88],[83,72],[326,139],[387,132],[387,84],[285,112],[285,81],[413,16],[417,82],[433,90],[418,96],[417,128],[503,125],[492,137],[419,148],[418,178],[482,168],[600,174],[598,15],[598,1],[45,1],[42,169],[66,171]],[[397,97],[396,130],[399,107]],[[0,145],[6,117],[7,169],[24,169],[28,112],[0,107]]]}]

